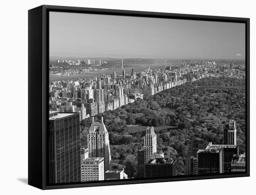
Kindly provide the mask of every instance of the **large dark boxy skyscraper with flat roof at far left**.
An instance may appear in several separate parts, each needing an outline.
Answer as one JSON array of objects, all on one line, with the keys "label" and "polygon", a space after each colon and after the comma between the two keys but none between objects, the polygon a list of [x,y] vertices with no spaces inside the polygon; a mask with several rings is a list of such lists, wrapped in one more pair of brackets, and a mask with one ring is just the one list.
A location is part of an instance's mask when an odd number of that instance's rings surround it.
[{"label": "large dark boxy skyscraper with flat roof at far left", "polygon": [[80,115],[49,113],[49,182],[80,182]]}]

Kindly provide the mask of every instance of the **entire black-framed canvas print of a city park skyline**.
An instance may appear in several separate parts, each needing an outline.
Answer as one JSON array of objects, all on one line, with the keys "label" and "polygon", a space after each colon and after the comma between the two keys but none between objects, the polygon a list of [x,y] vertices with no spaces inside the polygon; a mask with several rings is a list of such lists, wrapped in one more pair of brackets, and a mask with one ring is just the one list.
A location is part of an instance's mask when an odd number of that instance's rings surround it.
[{"label": "entire black-framed canvas print of a city park skyline", "polygon": [[28,183],[249,176],[249,19],[28,11]]}]

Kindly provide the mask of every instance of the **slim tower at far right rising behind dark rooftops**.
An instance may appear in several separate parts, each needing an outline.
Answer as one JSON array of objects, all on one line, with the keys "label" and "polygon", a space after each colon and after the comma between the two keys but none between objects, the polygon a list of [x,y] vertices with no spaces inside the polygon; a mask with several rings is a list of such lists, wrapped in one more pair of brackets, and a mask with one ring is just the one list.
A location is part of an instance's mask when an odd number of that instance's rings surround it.
[{"label": "slim tower at far right rising behind dark rooftops", "polygon": [[236,145],[236,121],[230,120],[224,127],[224,144]]}]

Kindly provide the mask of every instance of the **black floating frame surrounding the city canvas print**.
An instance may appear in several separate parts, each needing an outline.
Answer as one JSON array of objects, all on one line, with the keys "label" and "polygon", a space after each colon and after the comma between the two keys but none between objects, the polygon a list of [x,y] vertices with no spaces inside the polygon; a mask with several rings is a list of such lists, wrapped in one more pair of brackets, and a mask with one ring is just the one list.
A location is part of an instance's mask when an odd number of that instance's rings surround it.
[{"label": "black floating frame surrounding the city canvas print", "polygon": [[[48,62],[49,12],[94,13],[183,20],[236,22],[245,24],[246,34],[246,173],[214,176],[175,176],[159,179],[127,179],[115,181],[47,183],[48,127]],[[122,185],[151,182],[171,182],[249,176],[249,18],[205,16],[176,13],[155,13],[84,7],[43,5],[28,11],[28,184],[39,189],[63,189],[90,186]]]}]

